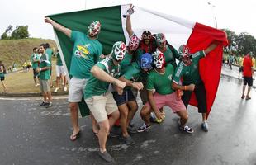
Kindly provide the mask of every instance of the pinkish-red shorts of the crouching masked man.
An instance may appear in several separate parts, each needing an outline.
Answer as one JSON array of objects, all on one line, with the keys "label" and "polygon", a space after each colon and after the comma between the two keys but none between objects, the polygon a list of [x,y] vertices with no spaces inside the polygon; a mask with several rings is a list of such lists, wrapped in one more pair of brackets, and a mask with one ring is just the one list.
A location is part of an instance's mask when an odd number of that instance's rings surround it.
[{"label": "pinkish-red shorts of the crouching masked man", "polygon": [[[168,95],[161,95],[154,92],[154,101],[158,109],[163,106],[169,106],[173,110],[173,113],[186,110],[183,101],[181,99],[179,101],[177,100],[177,92]],[[145,105],[150,106],[149,101]]]}]

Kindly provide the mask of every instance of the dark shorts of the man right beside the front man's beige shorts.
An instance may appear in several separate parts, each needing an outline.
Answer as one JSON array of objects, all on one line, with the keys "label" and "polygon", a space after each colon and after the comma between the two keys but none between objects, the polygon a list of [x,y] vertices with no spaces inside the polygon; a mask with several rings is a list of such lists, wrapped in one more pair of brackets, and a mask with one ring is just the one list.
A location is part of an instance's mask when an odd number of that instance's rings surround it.
[{"label": "dark shorts of the man right beside the front man's beige shorts", "polygon": [[131,92],[130,89],[126,89],[122,95],[119,95],[117,92],[112,92],[113,93],[113,97],[116,101],[116,105],[117,106],[121,106],[123,104],[126,104],[128,101],[135,101],[135,96],[133,95],[133,93]]}]

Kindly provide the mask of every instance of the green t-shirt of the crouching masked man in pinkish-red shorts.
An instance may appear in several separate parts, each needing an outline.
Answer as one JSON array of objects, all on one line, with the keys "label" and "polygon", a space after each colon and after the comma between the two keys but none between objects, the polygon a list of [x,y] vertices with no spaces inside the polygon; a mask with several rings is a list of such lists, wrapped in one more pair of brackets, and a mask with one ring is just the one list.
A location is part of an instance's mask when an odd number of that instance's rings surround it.
[{"label": "green t-shirt of the crouching masked man in pinkish-red shorts", "polygon": [[149,73],[147,90],[155,89],[161,95],[168,95],[174,92],[172,88],[174,68],[172,64],[167,64],[164,73],[158,73],[155,69]]}]

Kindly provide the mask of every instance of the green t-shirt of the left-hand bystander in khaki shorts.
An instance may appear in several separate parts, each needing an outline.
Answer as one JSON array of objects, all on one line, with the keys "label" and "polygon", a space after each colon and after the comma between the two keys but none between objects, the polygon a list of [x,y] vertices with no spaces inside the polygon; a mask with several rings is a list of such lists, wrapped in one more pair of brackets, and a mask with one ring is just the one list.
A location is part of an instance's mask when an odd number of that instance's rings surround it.
[{"label": "green t-shirt of the left-hand bystander in khaki shorts", "polygon": [[[44,67],[50,67],[50,59],[49,59],[48,54],[42,54],[40,57],[39,68],[44,68]],[[50,69],[40,71],[39,78],[42,80],[49,80],[50,79]]]}]

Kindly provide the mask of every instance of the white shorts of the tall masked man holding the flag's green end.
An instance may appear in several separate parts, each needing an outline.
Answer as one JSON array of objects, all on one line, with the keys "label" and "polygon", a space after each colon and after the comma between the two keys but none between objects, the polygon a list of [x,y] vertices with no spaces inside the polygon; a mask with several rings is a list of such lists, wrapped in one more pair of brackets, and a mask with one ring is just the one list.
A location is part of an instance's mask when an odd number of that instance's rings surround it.
[{"label": "white shorts of the tall masked man holding the flag's green end", "polygon": [[69,102],[81,102],[83,89],[86,86],[87,79],[71,78],[69,82]]}]

